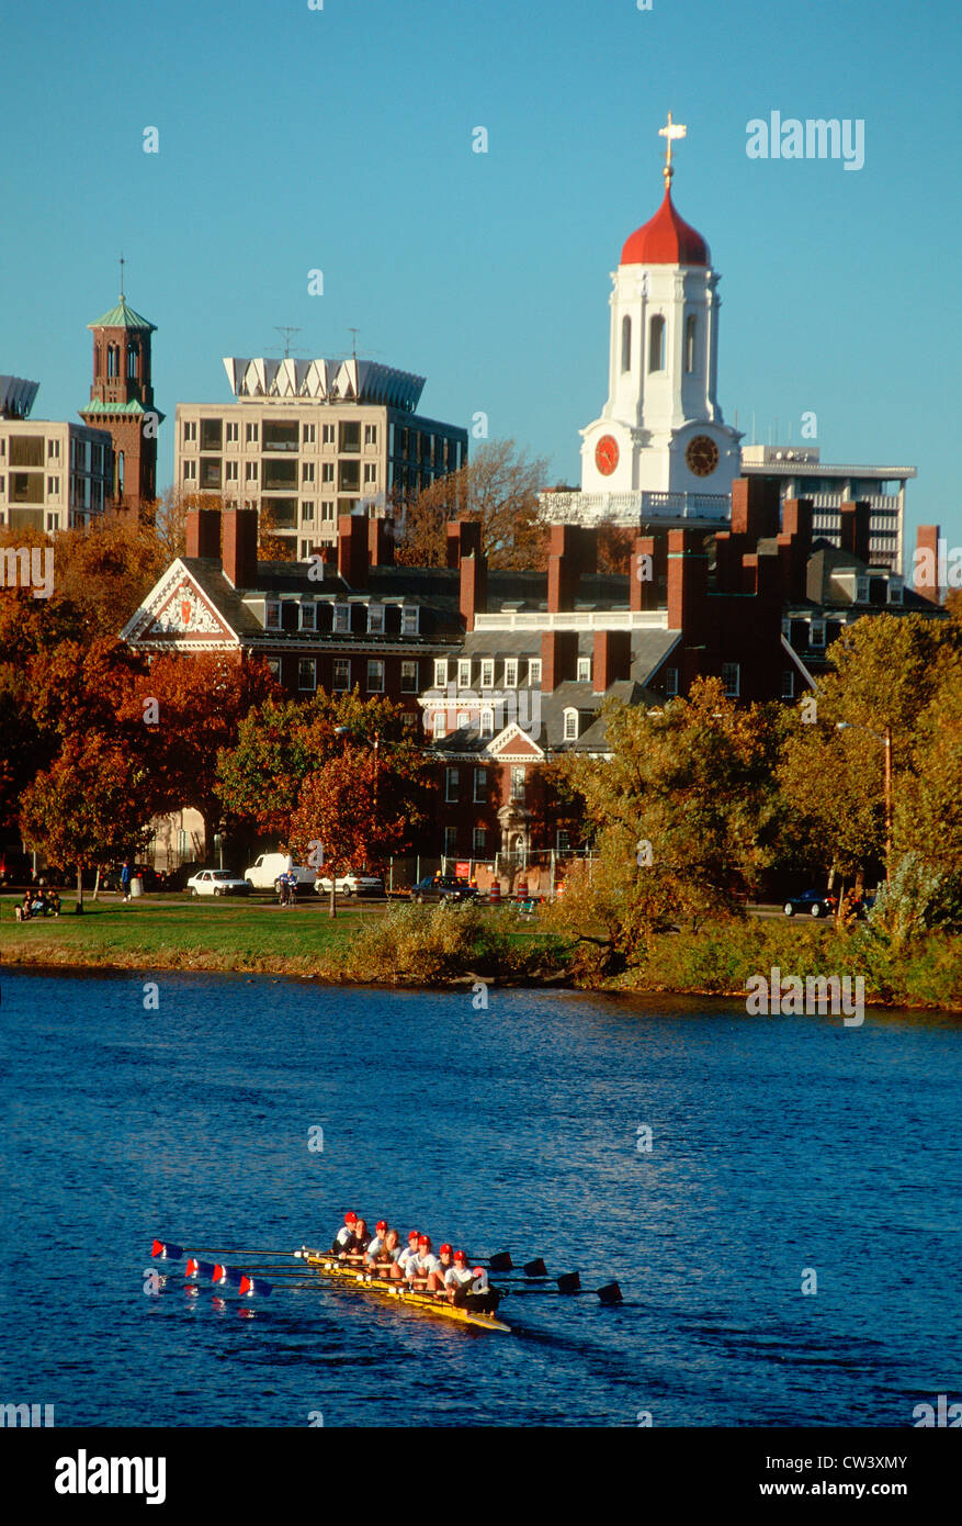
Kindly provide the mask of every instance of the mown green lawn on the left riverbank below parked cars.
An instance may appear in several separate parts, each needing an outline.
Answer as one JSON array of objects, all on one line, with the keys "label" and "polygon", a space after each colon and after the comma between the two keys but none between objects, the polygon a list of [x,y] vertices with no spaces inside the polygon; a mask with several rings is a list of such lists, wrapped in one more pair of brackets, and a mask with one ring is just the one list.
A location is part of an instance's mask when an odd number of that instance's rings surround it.
[{"label": "mown green lawn on the left riverbank below parked cars", "polygon": [[14,896],[0,897],[0,951],[6,964],[102,964],[120,969],[252,969],[313,974],[375,919],[380,909],[338,905],[281,908],[253,900],[120,897],[84,900],[73,914],[64,896],[58,919],[18,923]]}]

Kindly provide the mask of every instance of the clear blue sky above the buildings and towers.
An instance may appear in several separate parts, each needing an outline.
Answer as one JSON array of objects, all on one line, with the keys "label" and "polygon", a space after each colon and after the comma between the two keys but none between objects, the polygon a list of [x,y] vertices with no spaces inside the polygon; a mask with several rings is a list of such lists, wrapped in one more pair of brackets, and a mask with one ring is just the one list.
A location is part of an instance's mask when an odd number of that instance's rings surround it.
[{"label": "clear blue sky above the buildings and towers", "polygon": [[[162,487],[174,404],[226,400],[221,356],[285,324],[306,356],[357,327],[428,378],[422,412],[483,410],[576,482],[671,108],[675,204],[723,275],[726,420],[784,443],[814,410],[823,459],[918,465],[910,525],[959,545],[960,41],[950,0],[8,0],[0,371],[75,417],[123,250],[159,330]],[[864,168],[750,160],[771,110],[861,118]]]}]

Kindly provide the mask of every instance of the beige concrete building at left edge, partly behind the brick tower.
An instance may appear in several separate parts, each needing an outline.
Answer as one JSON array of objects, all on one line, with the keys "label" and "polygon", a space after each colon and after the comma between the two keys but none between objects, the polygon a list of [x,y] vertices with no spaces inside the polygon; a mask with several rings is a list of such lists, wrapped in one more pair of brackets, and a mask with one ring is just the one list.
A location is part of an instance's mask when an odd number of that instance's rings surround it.
[{"label": "beige concrete building at left edge, partly behind the brick tower", "polygon": [[107,430],[30,418],[40,383],[0,377],[0,525],[73,530],[98,519],[113,490]]}]

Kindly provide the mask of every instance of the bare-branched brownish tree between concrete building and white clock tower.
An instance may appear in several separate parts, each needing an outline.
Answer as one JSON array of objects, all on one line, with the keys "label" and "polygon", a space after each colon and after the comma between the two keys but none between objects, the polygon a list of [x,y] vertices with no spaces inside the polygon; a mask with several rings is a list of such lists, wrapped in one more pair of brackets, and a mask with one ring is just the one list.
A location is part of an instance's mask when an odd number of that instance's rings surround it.
[{"label": "bare-branched brownish tree between concrete building and white clock tower", "polygon": [[547,462],[529,459],[514,439],[491,439],[457,472],[425,487],[404,513],[396,560],[444,566],[447,526],[468,516],[482,523],[482,549],[491,568],[538,569],[546,563],[538,493]]}]

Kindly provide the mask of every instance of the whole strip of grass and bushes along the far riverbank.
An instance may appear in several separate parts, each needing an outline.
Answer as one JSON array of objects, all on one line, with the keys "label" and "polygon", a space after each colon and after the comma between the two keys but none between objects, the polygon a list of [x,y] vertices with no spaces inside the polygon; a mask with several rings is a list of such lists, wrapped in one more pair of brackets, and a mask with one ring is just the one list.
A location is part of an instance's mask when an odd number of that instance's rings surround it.
[{"label": "whole strip of grass and bushes along the far riverbank", "polygon": [[778,969],[784,980],[861,977],[867,1006],[962,1012],[962,938],[927,931],[893,940],[871,923],[715,919],[698,931],[639,937],[613,961],[602,938],[573,937],[552,925],[550,913],[521,919],[511,906],[342,906],[331,920],[320,908],[145,899],[130,906],[87,902],[76,917],[64,900],[59,919],[21,925],[14,922],[14,897],[0,905],[6,969],[277,975],[412,990],[564,987],[729,1001],[746,1000],[749,980]]}]

